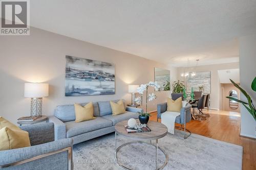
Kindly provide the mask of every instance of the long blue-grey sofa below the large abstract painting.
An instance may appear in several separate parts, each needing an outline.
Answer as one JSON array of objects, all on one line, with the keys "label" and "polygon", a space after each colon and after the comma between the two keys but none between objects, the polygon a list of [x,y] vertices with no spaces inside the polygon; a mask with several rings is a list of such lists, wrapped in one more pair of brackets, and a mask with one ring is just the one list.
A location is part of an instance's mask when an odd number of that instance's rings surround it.
[{"label": "long blue-grey sofa below the large abstract painting", "polygon": [[[114,102],[118,102],[116,100]],[[81,106],[87,103],[81,103]],[[125,104],[124,104],[125,105]],[[139,108],[125,107],[126,113],[112,115],[110,101],[93,103],[95,119],[75,122],[74,105],[57,106],[49,122],[54,123],[55,140],[72,138],[73,143],[79,143],[115,131],[114,126],[125,119],[138,118]]]}]

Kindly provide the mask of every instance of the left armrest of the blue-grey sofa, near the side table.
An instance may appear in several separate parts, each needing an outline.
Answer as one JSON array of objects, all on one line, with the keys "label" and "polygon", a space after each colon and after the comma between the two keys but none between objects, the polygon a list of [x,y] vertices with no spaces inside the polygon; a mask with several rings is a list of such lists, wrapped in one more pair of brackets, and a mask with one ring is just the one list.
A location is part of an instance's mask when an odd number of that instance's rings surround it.
[{"label": "left armrest of the blue-grey sofa, near the side table", "polygon": [[60,119],[55,116],[50,116],[49,122],[54,123],[55,140],[65,139],[67,137],[66,125]]}]

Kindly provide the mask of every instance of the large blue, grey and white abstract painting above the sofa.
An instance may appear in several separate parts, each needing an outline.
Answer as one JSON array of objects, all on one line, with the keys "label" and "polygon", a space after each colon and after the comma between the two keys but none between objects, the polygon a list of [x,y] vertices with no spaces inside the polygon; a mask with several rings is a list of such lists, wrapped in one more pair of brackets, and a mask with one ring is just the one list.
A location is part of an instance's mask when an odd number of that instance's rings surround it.
[{"label": "large blue, grey and white abstract painting above the sofa", "polygon": [[115,94],[115,65],[66,56],[66,96]]}]

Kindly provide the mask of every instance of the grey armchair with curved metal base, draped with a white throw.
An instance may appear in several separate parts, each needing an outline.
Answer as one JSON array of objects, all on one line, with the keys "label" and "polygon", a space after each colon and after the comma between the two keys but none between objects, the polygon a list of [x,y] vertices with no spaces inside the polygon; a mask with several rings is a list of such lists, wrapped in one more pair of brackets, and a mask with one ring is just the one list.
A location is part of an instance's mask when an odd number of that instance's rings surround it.
[{"label": "grey armchair with curved metal base, draped with a white throw", "polygon": [[[167,111],[167,103],[162,103],[157,105],[157,122],[158,118],[161,118],[161,114]],[[175,123],[180,124],[180,127],[176,127],[184,130],[184,139],[191,135],[191,132],[186,129],[186,123],[191,120],[191,105],[187,104],[185,107],[181,108],[180,115],[176,117]],[[184,128],[182,127],[184,125]],[[189,133],[186,135],[186,131]]]}]

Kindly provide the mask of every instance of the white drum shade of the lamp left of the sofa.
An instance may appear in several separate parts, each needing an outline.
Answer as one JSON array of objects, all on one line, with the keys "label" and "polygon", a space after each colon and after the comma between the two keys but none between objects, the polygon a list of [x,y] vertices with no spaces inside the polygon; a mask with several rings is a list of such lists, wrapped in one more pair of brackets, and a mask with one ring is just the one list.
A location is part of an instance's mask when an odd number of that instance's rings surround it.
[{"label": "white drum shade of the lamp left of the sofa", "polygon": [[25,83],[25,98],[42,98],[49,95],[48,83]]}]

